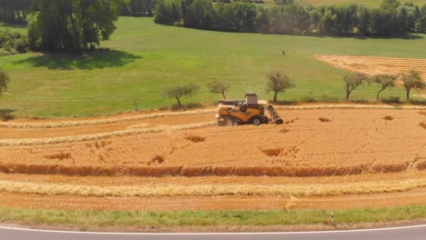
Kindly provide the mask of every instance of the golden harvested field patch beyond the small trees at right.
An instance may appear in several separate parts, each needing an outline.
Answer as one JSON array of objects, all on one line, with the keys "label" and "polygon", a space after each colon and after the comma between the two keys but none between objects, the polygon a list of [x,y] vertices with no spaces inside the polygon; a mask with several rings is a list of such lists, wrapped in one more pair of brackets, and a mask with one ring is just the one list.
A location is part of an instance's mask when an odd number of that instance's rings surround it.
[{"label": "golden harvested field patch beyond the small trees at right", "polygon": [[417,70],[426,79],[426,59],[360,55],[314,55],[314,57],[324,63],[367,75],[399,75]]}]

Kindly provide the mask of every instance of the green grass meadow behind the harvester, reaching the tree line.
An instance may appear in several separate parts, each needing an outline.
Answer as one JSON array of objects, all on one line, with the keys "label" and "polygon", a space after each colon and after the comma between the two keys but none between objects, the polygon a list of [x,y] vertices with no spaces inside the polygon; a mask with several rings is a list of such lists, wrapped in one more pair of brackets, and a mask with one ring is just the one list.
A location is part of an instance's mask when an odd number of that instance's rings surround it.
[{"label": "green grass meadow behind the harvester, reaching the tree line", "polygon": [[[0,26],[4,27],[4,26]],[[7,27],[11,27],[10,25]],[[19,28],[22,31],[22,27]],[[0,109],[19,116],[107,115],[134,109],[133,98],[145,109],[174,104],[163,95],[173,85],[195,83],[202,88],[184,103],[218,100],[206,84],[228,81],[228,97],[265,93],[265,75],[278,68],[297,87],[279,101],[343,100],[342,76],[347,72],[318,62],[311,55],[426,56],[426,35],[408,39],[357,39],[291,35],[233,34],[156,25],[152,18],[121,17],[111,40],[101,44],[111,51],[85,57],[71,55],[10,55],[0,67],[11,76]],[[282,55],[282,51],[286,55]],[[378,85],[357,89],[353,100],[373,101]],[[394,88],[382,96],[404,91]]]}]

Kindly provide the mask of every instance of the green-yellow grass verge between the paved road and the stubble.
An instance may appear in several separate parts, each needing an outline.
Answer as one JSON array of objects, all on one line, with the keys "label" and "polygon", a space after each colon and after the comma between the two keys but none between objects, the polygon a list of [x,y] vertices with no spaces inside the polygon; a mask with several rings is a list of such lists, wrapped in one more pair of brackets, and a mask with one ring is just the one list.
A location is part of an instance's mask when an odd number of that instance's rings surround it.
[{"label": "green-yellow grass verge between the paved road and the stubble", "polygon": [[[107,231],[108,228],[114,227],[113,231],[121,232],[141,230],[144,232],[179,232],[188,231],[188,228],[185,227],[193,226],[196,228],[192,231],[202,231],[208,227],[206,232],[232,229],[230,228],[232,226],[237,227],[234,229],[239,229],[238,231],[250,231],[254,227],[275,226],[274,230],[269,231],[279,231],[279,229],[286,229],[286,226],[291,225],[296,225],[293,230],[298,228],[299,230],[318,230],[334,228],[331,224],[331,211],[335,215],[336,228],[340,229],[370,227],[378,224],[395,225],[395,222],[402,221],[406,225],[419,224],[426,221],[426,205],[342,210],[178,212],[41,210],[0,206],[0,223],[42,225],[43,228],[46,226],[48,228],[61,227],[80,231],[90,231],[91,229]],[[398,225],[398,223],[396,224]],[[170,227],[173,229],[171,230]]]}]

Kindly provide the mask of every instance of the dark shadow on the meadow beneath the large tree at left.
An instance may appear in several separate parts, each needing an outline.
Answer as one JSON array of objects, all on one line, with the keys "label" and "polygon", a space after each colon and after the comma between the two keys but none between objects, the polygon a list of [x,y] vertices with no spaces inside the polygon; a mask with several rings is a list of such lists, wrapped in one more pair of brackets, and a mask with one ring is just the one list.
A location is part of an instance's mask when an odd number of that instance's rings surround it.
[{"label": "dark shadow on the meadow beneath the large tree at left", "polygon": [[45,66],[52,70],[96,69],[120,67],[134,62],[141,56],[117,50],[102,49],[86,55],[42,54],[15,61],[16,65]]}]

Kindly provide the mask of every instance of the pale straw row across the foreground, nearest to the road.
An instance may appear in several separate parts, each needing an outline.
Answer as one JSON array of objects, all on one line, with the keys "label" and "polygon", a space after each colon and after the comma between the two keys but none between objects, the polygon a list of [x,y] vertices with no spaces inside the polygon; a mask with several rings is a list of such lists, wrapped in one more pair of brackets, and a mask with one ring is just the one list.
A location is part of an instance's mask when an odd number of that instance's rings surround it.
[{"label": "pale straw row across the foreground, nearest to the road", "polygon": [[288,195],[328,196],[403,192],[425,187],[426,178],[404,181],[358,182],[323,185],[159,185],[96,186],[53,185],[30,182],[0,181],[0,192],[38,195],[84,195],[117,197],[154,197],[178,195]]}]

